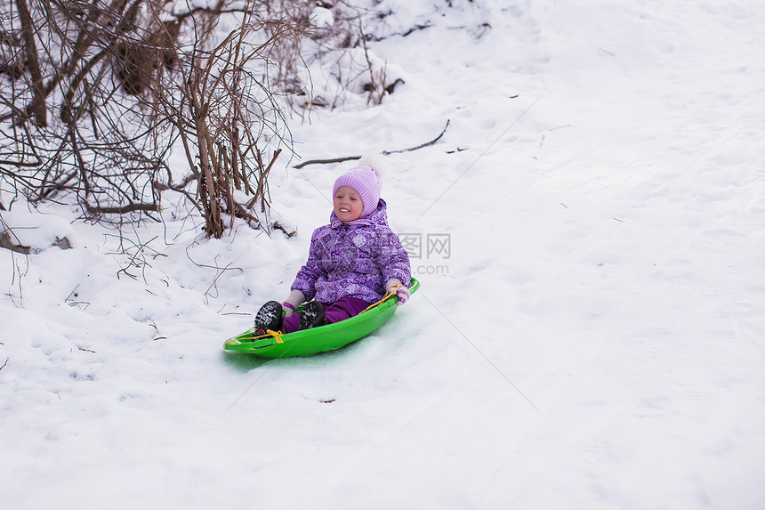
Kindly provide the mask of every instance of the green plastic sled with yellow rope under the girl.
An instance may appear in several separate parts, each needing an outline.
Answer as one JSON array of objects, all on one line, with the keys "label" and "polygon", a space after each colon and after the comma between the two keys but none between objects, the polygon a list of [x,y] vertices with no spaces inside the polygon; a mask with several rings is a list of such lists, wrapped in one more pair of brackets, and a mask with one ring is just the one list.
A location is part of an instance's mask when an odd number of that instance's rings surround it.
[{"label": "green plastic sled with yellow rope under the girl", "polygon": [[[414,294],[419,287],[420,282],[413,278],[409,284],[409,292]],[[396,308],[396,296],[391,295],[383,303],[349,319],[318,328],[286,333],[279,338],[255,336],[255,328],[251,328],[226,340],[223,349],[249,352],[263,358],[310,356],[318,352],[334,351],[380,328],[396,312]]]}]

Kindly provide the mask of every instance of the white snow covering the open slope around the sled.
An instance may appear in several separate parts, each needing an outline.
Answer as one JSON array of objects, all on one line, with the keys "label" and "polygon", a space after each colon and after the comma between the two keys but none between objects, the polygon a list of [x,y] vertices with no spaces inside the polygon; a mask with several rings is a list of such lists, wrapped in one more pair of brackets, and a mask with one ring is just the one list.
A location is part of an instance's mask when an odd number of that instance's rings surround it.
[{"label": "white snow covering the open slope around the sled", "polygon": [[4,507],[765,507],[765,4],[452,4],[384,0],[379,36],[430,25],[369,43],[406,83],[293,126],[310,159],[449,120],[383,186],[422,287],[341,351],[221,346],[348,164],[272,172],[291,239],[3,212]]}]

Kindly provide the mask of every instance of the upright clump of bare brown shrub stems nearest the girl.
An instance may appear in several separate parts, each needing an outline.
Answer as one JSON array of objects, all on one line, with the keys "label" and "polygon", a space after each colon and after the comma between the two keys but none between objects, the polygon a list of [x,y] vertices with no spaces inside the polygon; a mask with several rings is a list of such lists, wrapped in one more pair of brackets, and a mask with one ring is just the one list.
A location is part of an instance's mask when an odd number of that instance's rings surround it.
[{"label": "upright clump of bare brown shrub stems nearest the girl", "polygon": [[[260,45],[250,43],[247,35],[265,24],[246,21],[211,52],[192,55],[181,90],[185,107],[170,109],[197,180],[197,206],[207,234],[215,237],[226,228],[223,212],[261,223],[258,210],[266,213],[269,203],[268,175],[282,151],[264,160],[262,142],[286,138],[279,131],[286,123],[278,103],[254,69],[268,66],[264,51],[294,28],[280,21],[266,24],[271,36]],[[262,65],[253,64],[258,60]],[[246,203],[238,201],[237,191],[248,197]]]}]

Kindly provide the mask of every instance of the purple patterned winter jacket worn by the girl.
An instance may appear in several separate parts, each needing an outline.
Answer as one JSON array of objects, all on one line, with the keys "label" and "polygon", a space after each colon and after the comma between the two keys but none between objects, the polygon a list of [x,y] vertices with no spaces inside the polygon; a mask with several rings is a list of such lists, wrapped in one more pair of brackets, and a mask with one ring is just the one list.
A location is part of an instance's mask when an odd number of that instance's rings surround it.
[{"label": "purple patterned winter jacket worn by the girl", "polygon": [[348,295],[371,304],[383,298],[389,279],[408,286],[410,277],[409,255],[388,226],[387,205],[381,198],[366,218],[342,223],[333,211],[330,224],[313,231],[308,262],[291,290],[325,304]]}]

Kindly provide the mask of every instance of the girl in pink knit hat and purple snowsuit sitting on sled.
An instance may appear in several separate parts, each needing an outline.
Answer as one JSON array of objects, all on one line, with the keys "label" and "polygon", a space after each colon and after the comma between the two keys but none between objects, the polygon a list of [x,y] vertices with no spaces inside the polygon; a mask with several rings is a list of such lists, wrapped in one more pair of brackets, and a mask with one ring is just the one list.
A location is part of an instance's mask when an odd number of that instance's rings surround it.
[{"label": "girl in pink knit hat and purple snowsuit sitting on sled", "polygon": [[[292,333],[348,319],[393,288],[398,304],[407,302],[409,256],[388,226],[382,187],[380,175],[369,164],[338,177],[330,223],[313,232],[308,262],[298,271],[284,303],[270,301],[258,311],[258,334]],[[294,313],[305,301],[310,303]]]}]

